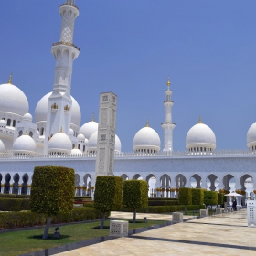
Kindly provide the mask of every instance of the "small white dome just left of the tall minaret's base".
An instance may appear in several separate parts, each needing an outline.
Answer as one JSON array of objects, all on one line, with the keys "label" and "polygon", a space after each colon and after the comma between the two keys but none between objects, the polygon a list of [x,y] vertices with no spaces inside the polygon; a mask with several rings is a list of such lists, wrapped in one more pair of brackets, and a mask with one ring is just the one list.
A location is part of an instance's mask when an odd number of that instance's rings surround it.
[{"label": "small white dome just left of the tall minaret's base", "polygon": [[36,153],[37,145],[35,141],[26,135],[18,137],[13,145],[14,154],[34,155]]}]

